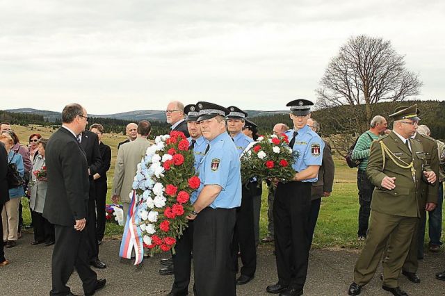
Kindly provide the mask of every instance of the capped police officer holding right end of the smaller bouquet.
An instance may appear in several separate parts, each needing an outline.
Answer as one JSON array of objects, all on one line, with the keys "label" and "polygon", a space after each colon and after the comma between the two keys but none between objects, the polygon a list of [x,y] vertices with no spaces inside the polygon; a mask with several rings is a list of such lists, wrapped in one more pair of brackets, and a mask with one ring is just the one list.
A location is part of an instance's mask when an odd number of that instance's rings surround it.
[{"label": "capped police officer holding right end of the smaller bouquet", "polygon": [[306,99],[296,99],[291,107],[293,129],[286,131],[293,150],[296,171],[293,181],[278,183],[273,204],[275,254],[278,283],[267,287],[282,296],[302,295],[309,261],[309,213],[312,183],[317,181],[323,159],[324,142],[307,126],[310,108]]}]

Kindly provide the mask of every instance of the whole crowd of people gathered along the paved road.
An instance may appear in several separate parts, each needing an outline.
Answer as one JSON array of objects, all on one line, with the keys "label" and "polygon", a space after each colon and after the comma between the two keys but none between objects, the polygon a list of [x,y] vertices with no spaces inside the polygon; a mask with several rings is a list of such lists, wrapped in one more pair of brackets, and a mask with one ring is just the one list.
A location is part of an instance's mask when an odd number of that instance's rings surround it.
[{"label": "whole crowd of people gathered along the paved road", "polygon": [[[289,102],[292,129],[277,123],[271,131],[289,139],[295,176],[289,182],[267,180],[268,234],[260,240],[263,183],[256,178],[242,183],[240,163],[241,154],[259,136],[257,124],[236,106],[225,108],[205,101],[168,104],[167,122],[172,131],[188,137],[201,179],[191,197],[189,227],[177,238],[175,255],[161,259],[159,273],[175,277],[168,295],[188,295],[192,262],[195,295],[236,295],[237,285],[254,279],[260,241],[275,244],[277,282],[267,286],[267,292],[303,294],[321,198],[331,195],[334,183],[332,150],[318,135],[320,124],[310,116],[312,105],[305,99]],[[394,120],[392,130],[385,117],[375,116],[353,149],[352,157],[359,161],[357,239],[364,240],[364,248],[349,295],[361,293],[381,258],[384,290],[407,295],[398,286],[400,273],[420,282],[416,272],[423,258],[426,213],[429,249],[438,252],[442,245],[445,174],[439,163],[444,162],[444,144],[430,138],[428,126],[418,125],[419,114],[415,105],[396,109],[389,116]],[[8,264],[3,244],[15,247],[21,236],[20,201],[28,196],[34,231],[31,245],[54,245],[50,295],[73,295],[66,283],[74,268],[85,294],[93,295],[106,284],[90,266],[106,268],[99,259],[99,245],[105,232],[111,148],[102,142],[102,125],[92,124],[86,130],[88,113],[83,106],[65,106],[62,122],[49,139],[30,135],[28,147],[20,144],[8,122],[0,124],[0,266]],[[127,140],[118,145],[111,190],[113,202],[123,206],[124,218],[137,165],[152,145],[148,121],[130,123],[126,132]],[[22,178],[13,188],[7,182],[12,168]],[[445,272],[436,277],[445,280]]]}]

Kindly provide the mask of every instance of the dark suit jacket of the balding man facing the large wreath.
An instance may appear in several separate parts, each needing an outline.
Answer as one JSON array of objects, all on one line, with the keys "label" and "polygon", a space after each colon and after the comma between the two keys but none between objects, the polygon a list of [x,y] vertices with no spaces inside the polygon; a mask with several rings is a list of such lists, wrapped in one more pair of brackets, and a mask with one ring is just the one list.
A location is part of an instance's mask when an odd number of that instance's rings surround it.
[{"label": "dark suit jacket of the balding man facing the large wreath", "polygon": [[45,149],[48,190],[43,216],[52,224],[73,226],[87,217],[88,164],[76,137],[60,127]]}]

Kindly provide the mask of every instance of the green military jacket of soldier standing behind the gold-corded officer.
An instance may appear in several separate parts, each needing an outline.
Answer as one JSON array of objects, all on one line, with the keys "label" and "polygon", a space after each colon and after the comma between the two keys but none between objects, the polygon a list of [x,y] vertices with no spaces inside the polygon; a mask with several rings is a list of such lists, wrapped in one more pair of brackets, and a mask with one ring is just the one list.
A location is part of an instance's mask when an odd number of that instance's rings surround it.
[{"label": "green military jacket of soldier standing behind the gold-corded officer", "polygon": [[[414,140],[421,142],[423,151],[426,156],[426,163],[430,166],[431,170],[435,172],[437,179],[439,179],[439,154],[437,153],[437,142],[428,135],[421,135],[416,133]],[[421,198],[419,199],[419,206],[425,208],[427,202],[434,202],[437,204],[437,195],[439,194],[439,182],[430,184],[427,182],[421,182],[420,186]]]}]

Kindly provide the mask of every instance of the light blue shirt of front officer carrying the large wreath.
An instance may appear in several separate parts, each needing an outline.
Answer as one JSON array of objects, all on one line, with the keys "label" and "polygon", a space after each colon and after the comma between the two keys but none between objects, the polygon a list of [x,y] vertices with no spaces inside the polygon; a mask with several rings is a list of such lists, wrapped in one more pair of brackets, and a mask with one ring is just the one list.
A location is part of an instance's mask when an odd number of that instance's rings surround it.
[{"label": "light blue shirt of front officer carrying the large wreath", "polygon": [[196,202],[206,185],[219,185],[223,188],[211,208],[236,208],[241,206],[241,163],[238,151],[228,133],[221,133],[209,142],[210,149],[198,166],[201,179],[197,194],[191,197]]}]

